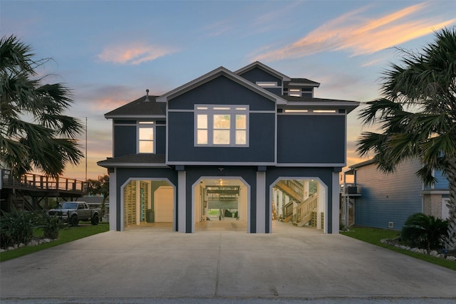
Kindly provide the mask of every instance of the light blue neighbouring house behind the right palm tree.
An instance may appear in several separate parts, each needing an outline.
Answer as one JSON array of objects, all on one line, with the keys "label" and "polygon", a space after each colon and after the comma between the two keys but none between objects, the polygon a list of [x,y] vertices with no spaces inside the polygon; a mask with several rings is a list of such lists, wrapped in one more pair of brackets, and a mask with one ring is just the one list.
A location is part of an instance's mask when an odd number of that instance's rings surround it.
[{"label": "light blue neighbouring house behind the right palm tree", "polygon": [[417,212],[446,219],[448,181],[435,172],[438,182],[426,186],[416,175],[420,167],[417,159],[404,161],[393,174],[381,172],[372,160],[351,166],[344,172],[353,175],[353,184],[343,187],[343,222],[402,229],[408,216]]}]

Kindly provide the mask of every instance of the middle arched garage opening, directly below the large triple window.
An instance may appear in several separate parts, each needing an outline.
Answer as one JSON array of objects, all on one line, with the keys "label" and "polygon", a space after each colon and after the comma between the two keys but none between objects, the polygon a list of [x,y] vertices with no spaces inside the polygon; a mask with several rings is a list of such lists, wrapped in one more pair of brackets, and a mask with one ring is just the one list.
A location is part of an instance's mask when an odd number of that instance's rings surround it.
[{"label": "middle arched garage opening, directly below the large triple window", "polygon": [[195,231],[247,231],[248,187],[241,179],[200,179],[194,190]]}]

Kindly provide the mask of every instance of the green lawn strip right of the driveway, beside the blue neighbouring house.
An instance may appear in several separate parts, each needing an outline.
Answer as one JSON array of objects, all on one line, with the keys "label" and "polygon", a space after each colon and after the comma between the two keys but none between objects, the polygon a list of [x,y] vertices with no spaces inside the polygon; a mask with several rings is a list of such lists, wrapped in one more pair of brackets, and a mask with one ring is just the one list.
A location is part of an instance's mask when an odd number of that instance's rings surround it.
[{"label": "green lawn strip right of the driveway, beside the blue neighbouring house", "polygon": [[397,248],[395,246],[390,246],[384,243],[380,243],[381,239],[395,239],[400,235],[400,231],[389,230],[389,229],[378,229],[378,228],[369,228],[369,227],[353,227],[350,231],[341,231],[341,234],[344,236],[350,236],[353,239],[358,239],[360,241],[365,241],[366,243],[371,243],[375,246],[380,246],[387,248],[398,253],[403,253],[406,256],[412,256],[413,258],[418,258],[422,261],[427,261],[445,268],[450,268],[453,271],[456,271],[456,262],[447,261],[442,258],[436,258],[435,256],[427,256],[426,254],[416,253],[408,251],[405,249]]}]

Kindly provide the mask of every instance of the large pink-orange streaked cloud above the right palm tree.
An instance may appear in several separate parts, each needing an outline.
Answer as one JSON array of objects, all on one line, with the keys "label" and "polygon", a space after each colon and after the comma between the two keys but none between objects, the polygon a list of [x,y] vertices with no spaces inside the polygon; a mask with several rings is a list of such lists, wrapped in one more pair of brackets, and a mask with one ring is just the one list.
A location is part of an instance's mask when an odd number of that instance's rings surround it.
[{"label": "large pink-orange streaked cloud above the right palm tree", "polygon": [[430,6],[432,4],[416,4],[377,19],[363,16],[368,10],[364,7],[323,24],[283,48],[259,51],[254,60],[300,58],[321,51],[349,51],[352,56],[371,54],[425,36],[456,22],[456,19],[442,21],[430,14],[423,17],[423,13],[430,9]]}]

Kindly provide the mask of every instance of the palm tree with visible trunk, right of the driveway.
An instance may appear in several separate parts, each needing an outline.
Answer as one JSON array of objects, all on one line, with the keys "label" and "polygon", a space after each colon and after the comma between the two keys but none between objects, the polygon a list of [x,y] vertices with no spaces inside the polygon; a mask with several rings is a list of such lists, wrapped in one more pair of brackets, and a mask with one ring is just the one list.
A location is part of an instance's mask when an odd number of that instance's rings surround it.
[{"label": "palm tree with visible trunk, right of the driveway", "polygon": [[361,110],[364,125],[381,132],[363,132],[358,152],[368,155],[384,172],[394,172],[408,158],[420,159],[417,172],[426,184],[441,170],[450,186],[447,248],[456,248],[456,33],[443,29],[421,53],[400,50],[401,65],[383,73],[384,98]]}]

